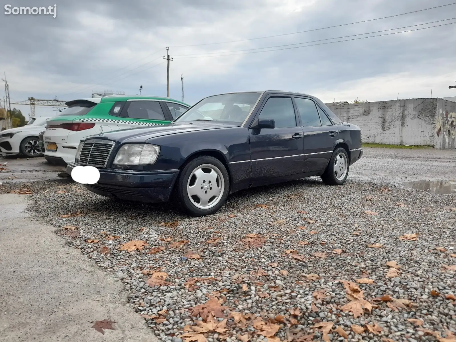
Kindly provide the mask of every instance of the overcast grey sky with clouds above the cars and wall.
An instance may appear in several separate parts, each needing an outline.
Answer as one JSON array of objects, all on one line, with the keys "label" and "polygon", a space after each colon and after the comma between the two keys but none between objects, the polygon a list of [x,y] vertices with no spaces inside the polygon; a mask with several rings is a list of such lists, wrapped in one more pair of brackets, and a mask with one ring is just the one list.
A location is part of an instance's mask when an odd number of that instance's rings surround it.
[{"label": "overcast grey sky with clouds above the cars and wall", "polygon": [[[272,52],[249,50],[351,36],[406,31],[456,22],[452,0],[3,0],[4,5],[57,5],[57,16],[1,14],[0,71],[11,102],[28,97],[72,100],[92,92],[166,96],[194,104],[215,93],[280,89],[324,102],[456,96],[456,24],[353,41]],[[431,21],[440,21],[429,23]],[[272,38],[254,39],[264,36]],[[371,34],[373,35],[373,34]],[[362,36],[341,38],[345,40]],[[250,39],[250,40],[248,40]],[[337,40],[337,39],[336,39]],[[236,41],[223,44],[218,42]],[[334,40],[314,42],[318,44]],[[209,45],[201,45],[209,44]],[[189,46],[193,45],[193,46]],[[309,45],[309,44],[304,44]],[[187,46],[187,47],[182,47]],[[300,45],[285,46],[296,47]],[[302,46],[302,45],[301,45]],[[277,49],[277,48],[275,48]],[[233,52],[249,50],[245,52]],[[218,52],[218,53],[213,53]],[[209,53],[209,54],[208,54]],[[220,54],[231,56],[219,56]],[[185,56],[184,56],[185,55]],[[190,55],[190,56],[188,56]],[[3,75],[2,75],[3,78]],[[13,107],[18,107],[14,106]],[[21,106],[27,116],[28,106]],[[38,108],[37,116],[52,116]]]}]

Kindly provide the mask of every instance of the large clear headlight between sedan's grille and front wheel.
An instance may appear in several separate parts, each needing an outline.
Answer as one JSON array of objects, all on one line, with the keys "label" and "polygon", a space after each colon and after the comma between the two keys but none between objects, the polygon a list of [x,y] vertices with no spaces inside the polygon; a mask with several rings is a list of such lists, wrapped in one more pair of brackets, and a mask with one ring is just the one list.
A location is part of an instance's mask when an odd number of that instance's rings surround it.
[{"label": "large clear headlight between sedan's grille and front wheel", "polygon": [[160,146],[151,144],[125,144],[114,158],[117,165],[153,164],[160,154]]}]

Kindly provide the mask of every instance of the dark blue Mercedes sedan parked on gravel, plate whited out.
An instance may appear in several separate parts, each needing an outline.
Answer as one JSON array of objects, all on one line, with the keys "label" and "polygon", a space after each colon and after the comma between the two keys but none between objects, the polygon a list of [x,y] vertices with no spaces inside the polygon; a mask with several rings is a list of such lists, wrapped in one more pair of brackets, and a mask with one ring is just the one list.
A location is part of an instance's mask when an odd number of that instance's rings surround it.
[{"label": "dark blue Mercedes sedan parked on gravel, plate whited out", "polygon": [[249,187],[308,176],[341,185],[362,155],[360,128],[318,98],[242,92],[203,98],[170,124],[85,138],[67,172],[95,166],[98,182],[85,185],[92,192],[141,202],[172,197],[203,216]]}]

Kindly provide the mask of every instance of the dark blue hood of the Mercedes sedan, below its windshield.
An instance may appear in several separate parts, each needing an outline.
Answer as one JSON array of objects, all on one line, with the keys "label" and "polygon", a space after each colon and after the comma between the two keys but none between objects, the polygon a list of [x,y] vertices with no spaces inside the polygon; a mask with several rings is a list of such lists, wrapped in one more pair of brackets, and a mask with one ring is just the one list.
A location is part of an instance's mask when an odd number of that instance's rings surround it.
[{"label": "dark blue hood of the Mercedes sedan, below its windshield", "polygon": [[218,122],[218,121],[191,121],[183,123],[172,123],[152,127],[130,128],[126,130],[116,130],[99,135],[93,135],[92,138],[116,140],[124,142],[145,142],[150,138],[163,135],[186,133],[199,130],[214,130],[218,128],[238,127],[237,123]]}]

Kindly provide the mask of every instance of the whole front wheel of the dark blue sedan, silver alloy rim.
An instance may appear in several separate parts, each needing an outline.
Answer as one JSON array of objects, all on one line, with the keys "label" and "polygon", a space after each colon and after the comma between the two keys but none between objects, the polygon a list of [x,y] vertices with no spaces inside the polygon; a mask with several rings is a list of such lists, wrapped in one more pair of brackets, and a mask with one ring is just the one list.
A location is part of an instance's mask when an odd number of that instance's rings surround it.
[{"label": "whole front wheel of the dark blue sedan, silver alloy rim", "polygon": [[211,215],[228,197],[228,171],[217,158],[197,157],[182,169],[175,191],[183,211],[192,216]]}]

